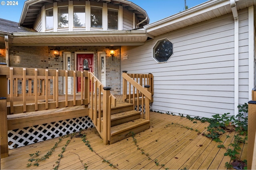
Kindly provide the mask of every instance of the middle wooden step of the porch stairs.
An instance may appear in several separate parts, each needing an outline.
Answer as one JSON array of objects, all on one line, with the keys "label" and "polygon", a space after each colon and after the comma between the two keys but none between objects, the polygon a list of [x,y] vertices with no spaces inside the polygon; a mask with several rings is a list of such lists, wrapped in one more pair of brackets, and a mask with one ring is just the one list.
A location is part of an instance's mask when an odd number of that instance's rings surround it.
[{"label": "middle wooden step of the porch stairs", "polygon": [[129,110],[111,115],[111,127],[140,119],[140,111]]}]

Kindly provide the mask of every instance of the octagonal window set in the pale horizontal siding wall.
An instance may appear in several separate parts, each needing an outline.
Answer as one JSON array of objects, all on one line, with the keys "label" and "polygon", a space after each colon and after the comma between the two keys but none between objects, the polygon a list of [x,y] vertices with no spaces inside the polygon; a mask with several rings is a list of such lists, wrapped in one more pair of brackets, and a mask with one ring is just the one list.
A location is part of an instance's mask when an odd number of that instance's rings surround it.
[{"label": "octagonal window set in the pale horizontal siding wall", "polygon": [[168,61],[173,54],[173,43],[166,39],[158,41],[153,48],[153,58],[158,62]]}]

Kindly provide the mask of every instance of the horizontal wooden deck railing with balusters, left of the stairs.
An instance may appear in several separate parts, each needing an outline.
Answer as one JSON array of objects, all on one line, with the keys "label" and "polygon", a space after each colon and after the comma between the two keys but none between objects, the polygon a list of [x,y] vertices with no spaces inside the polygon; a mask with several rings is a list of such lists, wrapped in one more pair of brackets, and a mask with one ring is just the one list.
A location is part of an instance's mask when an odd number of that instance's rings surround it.
[{"label": "horizontal wooden deck railing with balusters, left of the stairs", "polygon": [[[42,68],[2,67],[8,84],[8,114],[25,113],[54,108],[88,105],[88,74],[86,71],[50,70]],[[73,81],[73,98],[68,100],[68,77],[81,78],[80,99],[76,100],[76,81]],[[64,101],[59,101],[59,81],[65,80]],[[62,95],[63,96],[63,95]],[[20,106],[14,106],[17,103]]]}]

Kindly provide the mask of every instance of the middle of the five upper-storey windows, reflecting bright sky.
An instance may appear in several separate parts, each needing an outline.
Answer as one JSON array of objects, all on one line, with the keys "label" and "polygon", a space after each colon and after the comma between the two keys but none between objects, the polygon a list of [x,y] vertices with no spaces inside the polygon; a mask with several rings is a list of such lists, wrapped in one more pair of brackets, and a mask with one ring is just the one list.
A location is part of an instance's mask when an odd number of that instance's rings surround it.
[{"label": "middle of the five upper-storey windows, reflecting bright sky", "polygon": [[84,6],[74,6],[74,27],[85,27]]}]

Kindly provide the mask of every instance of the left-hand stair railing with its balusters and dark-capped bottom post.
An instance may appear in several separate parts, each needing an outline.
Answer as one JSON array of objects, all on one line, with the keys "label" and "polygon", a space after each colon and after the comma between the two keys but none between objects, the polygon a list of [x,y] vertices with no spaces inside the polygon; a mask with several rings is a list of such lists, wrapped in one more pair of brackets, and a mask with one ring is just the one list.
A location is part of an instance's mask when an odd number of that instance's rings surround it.
[{"label": "left-hand stair railing with its balusters and dark-capped bottom post", "polygon": [[[88,72],[88,77],[90,78],[92,91],[90,94],[91,108],[89,117],[102,137],[103,143],[108,145],[110,141],[111,105],[116,106],[116,98],[110,94],[111,88],[104,87],[92,72]],[[103,95],[103,101],[101,101],[101,95]]]}]

